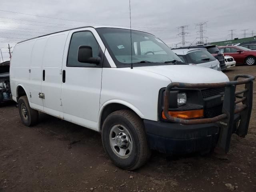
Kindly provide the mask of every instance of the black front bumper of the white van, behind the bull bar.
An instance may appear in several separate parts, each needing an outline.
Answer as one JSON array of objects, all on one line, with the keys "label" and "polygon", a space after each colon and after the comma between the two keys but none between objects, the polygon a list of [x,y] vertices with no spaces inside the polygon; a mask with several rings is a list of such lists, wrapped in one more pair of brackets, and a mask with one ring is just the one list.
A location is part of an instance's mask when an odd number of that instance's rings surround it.
[{"label": "black front bumper of the white van, behind the bull bar", "polygon": [[[234,117],[231,132],[236,132],[240,115]],[[178,123],[156,122],[144,120],[150,149],[166,154],[188,154],[211,150],[218,143],[219,123],[182,125]]]}]

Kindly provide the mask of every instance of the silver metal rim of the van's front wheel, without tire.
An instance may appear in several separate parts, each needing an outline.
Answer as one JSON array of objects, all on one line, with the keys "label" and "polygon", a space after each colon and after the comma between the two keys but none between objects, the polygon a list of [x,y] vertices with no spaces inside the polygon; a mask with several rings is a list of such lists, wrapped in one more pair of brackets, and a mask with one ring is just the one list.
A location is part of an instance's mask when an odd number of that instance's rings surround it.
[{"label": "silver metal rim of the van's front wheel, without tire", "polygon": [[122,125],[114,125],[110,129],[109,143],[112,151],[120,158],[128,158],[132,153],[130,132]]}]

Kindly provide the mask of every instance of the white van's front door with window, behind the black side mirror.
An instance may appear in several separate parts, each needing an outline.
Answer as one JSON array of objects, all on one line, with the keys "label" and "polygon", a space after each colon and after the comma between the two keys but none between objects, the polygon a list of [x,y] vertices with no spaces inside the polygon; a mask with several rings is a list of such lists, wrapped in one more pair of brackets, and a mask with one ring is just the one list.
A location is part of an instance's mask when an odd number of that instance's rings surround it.
[{"label": "white van's front door with window, behind the black side mirror", "polygon": [[[91,46],[93,57],[101,58],[100,64],[78,62],[78,47],[81,45]],[[97,128],[100,108],[102,50],[105,47],[94,28],[71,30],[62,64],[64,119],[91,129]]]}]

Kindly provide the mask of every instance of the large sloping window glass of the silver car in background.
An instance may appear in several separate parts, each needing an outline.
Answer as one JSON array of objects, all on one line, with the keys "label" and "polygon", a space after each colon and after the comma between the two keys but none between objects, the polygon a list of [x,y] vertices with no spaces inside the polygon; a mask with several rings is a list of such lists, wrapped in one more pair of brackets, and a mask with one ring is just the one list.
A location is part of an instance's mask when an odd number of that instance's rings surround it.
[{"label": "large sloping window glass of the silver car in background", "polygon": [[216,60],[208,51],[195,51],[188,53],[189,60],[193,64],[200,64]]}]

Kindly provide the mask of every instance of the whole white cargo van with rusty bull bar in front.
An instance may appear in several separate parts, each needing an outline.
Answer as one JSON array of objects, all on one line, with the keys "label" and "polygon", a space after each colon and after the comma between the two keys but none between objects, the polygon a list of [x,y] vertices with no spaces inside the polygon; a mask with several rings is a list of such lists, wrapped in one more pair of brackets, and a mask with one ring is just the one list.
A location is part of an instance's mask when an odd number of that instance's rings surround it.
[{"label": "whole white cargo van with rusty bull bar in front", "polygon": [[[10,64],[25,125],[35,125],[39,111],[100,132],[110,159],[127,170],[142,166],[150,150],[228,152],[231,134],[247,133],[252,80],[229,82],[222,72],[182,63],[152,34],[112,27],[19,42]],[[246,89],[235,92],[237,84]]]}]

